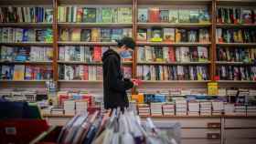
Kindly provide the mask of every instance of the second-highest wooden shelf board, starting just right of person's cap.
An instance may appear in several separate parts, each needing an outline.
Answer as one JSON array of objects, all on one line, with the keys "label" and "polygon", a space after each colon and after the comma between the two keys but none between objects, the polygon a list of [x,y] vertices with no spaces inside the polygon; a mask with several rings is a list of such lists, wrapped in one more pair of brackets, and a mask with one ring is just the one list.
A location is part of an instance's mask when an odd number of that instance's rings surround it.
[{"label": "second-highest wooden shelf board, starting just right of person's cap", "polygon": [[141,42],[137,41],[138,46],[210,46],[211,43],[168,43],[168,42]]}]

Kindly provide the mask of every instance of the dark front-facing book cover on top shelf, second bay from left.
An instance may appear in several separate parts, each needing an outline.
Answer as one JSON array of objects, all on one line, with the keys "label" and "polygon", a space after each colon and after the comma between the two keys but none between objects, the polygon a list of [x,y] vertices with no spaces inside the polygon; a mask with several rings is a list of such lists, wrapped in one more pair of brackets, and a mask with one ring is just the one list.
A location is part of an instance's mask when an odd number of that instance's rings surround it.
[{"label": "dark front-facing book cover on top shelf, second bay from left", "polygon": [[[96,8],[83,8],[83,19],[84,23],[96,23]],[[104,15],[105,16],[105,15]]]}]

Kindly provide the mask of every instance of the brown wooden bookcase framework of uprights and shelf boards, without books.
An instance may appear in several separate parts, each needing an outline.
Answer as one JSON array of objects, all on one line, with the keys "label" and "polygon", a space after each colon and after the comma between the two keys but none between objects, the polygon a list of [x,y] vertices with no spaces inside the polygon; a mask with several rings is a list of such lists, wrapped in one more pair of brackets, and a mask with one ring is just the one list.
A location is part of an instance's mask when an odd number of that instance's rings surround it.
[{"label": "brown wooden bookcase framework of uprights and shelf boards, without books", "polygon": [[[136,41],[137,46],[208,46],[208,54],[209,59],[206,62],[138,62],[137,57],[137,50],[133,53],[133,61],[132,62],[123,62],[123,65],[129,65],[132,67],[132,76],[133,78],[136,77],[136,67],[139,65],[186,65],[186,66],[195,66],[195,65],[205,65],[209,67],[209,80],[208,81],[216,81],[219,83],[229,82],[226,80],[216,80],[215,77],[217,75],[216,69],[219,65],[230,65],[230,66],[251,66],[252,63],[242,63],[242,62],[222,62],[217,60],[217,46],[225,46],[225,47],[251,47],[256,46],[256,43],[217,43],[216,42],[216,28],[253,28],[256,27],[256,24],[217,24],[216,21],[216,12],[217,7],[219,5],[223,6],[255,6],[254,0],[77,0],[77,1],[69,1],[69,0],[2,0],[1,5],[50,5],[54,9],[53,13],[53,23],[0,23],[0,27],[51,27],[53,29],[53,42],[46,43],[46,42],[15,42],[15,43],[0,43],[0,46],[52,46],[54,49],[54,58],[52,61],[37,61],[37,62],[0,62],[0,64],[29,64],[29,65],[52,65],[53,67],[53,80],[55,82],[68,82],[65,80],[59,80],[59,64],[69,64],[69,65],[96,65],[100,66],[100,63],[86,63],[86,62],[77,62],[77,61],[59,61],[59,46],[117,46],[115,42],[70,42],[70,41],[59,41],[59,28],[68,27],[68,28],[92,28],[92,27],[103,27],[103,28],[122,28],[122,27],[131,27],[133,29],[133,38],[136,39],[136,33],[139,27],[141,28],[150,28],[150,27],[173,27],[173,28],[185,28],[185,29],[198,29],[198,28],[208,28],[209,35],[210,35],[210,42],[209,43],[166,43],[166,42],[144,42],[144,41]],[[132,23],[63,23],[58,22],[58,6],[59,5],[83,5],[83,6],[120,6],[120,5],[129,5],[132,7],[133,11],[133,22]],[[179,5],[180,8],[183,7],[193,7],[190,5],[195,5],[196,7],[206,6],[208,7],[208,12],[211,15],[211,20],[208,23],[185,23],[185,24],[172,24],[172,23],[139,23],[137,21],[137,14],[138,8],[140,6],[158,6],[158,7],[169,7],[169,6],[177,6]],[[4,80],[5,81],[5,80]],[[7,80],[8,81],[8,80]],[[207,87],[205,83],[208,81],[203,81],[202,85]],[[15,81],[14,81],[15,82]],[[80,82],[77,80],[71,81],[73,83]],[[83,81],[87,82],[90,85],[91,81]],[[146,83],[150,83],[149,81],[145,81]],[[253,83],[251,81],[231,81],[235,83]],[[231,83],[229,82],[229,83]],[[155,85],[161,83],[169,83],[167,82],[160,82],[154,81],[152,82]],[[192,83],[189,80],[184,81],[172,81],[172,83],[182,83],[182,85],[186,85],[187,83]],[[198,81],[195,81],[198,83]]]}]

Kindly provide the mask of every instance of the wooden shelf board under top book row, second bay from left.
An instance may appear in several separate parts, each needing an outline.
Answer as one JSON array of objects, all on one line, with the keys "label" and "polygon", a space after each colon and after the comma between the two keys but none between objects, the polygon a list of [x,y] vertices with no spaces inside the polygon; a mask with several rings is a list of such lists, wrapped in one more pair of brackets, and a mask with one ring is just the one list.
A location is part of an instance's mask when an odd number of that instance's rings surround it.
[{"label": "wooden shelf board under top book row, second bay from left", "polygon": [[62,23],[59,22],[60,27],[132,27],[132,23]]}]

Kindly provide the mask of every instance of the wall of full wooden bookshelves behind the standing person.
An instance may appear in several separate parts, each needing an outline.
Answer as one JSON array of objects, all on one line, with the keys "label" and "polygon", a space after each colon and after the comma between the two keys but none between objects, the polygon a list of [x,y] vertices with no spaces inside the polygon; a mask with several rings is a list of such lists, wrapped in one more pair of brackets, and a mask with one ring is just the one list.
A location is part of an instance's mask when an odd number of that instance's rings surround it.
[{"label": "wall of full wooden bookshelves behind the standing person", "polygon": [[143,87],[207,87],[210,81],[255,87],[250,0],[1,3],[1,87],[53,80],[59,87],[99,88],[101,56],[123,36],[137,44],[122,58],[124,75],[141,79]]}]

